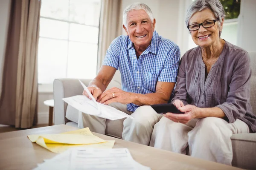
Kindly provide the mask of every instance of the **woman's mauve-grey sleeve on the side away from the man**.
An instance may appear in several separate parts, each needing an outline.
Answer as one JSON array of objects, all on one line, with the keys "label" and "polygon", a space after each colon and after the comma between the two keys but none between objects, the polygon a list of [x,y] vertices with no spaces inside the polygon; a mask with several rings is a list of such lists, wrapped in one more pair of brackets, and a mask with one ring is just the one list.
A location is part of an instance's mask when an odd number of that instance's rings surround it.
[{"label": "woman's mauve-grey sleeve on the side away from the man", "polygon": [[229,123],[235,122],[247,112],[251,74],[250,57],[246,52],[234,65],[226,102],[216,106],[225,113]]}]

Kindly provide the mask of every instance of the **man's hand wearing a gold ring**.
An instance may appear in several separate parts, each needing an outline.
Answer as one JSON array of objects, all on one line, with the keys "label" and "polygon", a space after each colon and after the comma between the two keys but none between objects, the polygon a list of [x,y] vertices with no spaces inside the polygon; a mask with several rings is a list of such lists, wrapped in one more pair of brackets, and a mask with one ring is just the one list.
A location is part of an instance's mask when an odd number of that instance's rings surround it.
[{"label": "man's hand wearing a gold ring", "polygon": [[113,87],[107,91],[104,91],[97,99],[97,102],[103,103],[104,105],[108,105],[113,102],[119,102],[126,105],[133,102],[132,98],[132,93]]}]

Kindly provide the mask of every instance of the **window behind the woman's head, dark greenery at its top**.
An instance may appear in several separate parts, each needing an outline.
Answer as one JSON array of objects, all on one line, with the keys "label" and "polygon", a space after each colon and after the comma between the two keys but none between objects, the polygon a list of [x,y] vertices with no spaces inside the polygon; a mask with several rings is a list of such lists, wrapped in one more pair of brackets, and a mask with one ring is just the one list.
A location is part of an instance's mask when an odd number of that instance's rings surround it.
[{"label": "window behind the woman's head, dark greenery at its top", "polygon": [[[237,28],[238,28],[238,19],[240,13],[240,3],[241,0],[220,0],[224,11],[225,11],[225,20],[223,29],[221,32],[221,38],[227,40],[228,42],[237,45]],[[194,48],[197,45],[191,39],[189,34],[189,45],[188,49]]]}]

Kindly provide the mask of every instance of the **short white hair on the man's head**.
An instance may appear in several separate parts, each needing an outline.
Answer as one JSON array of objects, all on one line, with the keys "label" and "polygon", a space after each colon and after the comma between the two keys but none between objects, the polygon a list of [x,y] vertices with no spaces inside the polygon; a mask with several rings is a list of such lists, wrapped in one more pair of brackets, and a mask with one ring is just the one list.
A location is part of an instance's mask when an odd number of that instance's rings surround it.
[{"label": "short white hair on the man's head", "polygon": [[153,13],[152,13],[151,9],[145,3],[133,3],[129,6],[127,6],[123,12],[123,25],[125,27],[127,27],[127,14],[131,10],[140,10],[140,9],[143,9],[148,14],[151,21],[153,22],[153,20],[154,20]]}]

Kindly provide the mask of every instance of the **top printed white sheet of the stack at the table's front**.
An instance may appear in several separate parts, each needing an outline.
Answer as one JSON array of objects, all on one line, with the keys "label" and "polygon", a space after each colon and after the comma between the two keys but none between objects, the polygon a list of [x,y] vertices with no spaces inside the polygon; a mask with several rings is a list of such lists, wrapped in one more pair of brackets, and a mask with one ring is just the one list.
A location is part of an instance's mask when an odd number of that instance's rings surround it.
[{"label": "top printed white sheet of the stack at the table's front", "polygon": [[128,149],[74,149],[71,170],[149,170],[131,157]]}]

